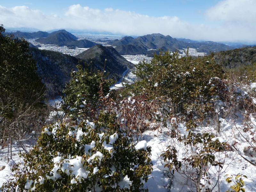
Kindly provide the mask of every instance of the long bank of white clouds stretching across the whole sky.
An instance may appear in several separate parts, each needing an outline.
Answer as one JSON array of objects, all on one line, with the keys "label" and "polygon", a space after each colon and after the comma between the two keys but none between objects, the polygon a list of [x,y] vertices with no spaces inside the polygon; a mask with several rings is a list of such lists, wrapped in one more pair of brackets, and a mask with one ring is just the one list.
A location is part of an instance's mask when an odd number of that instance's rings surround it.
[{"label": "long bank of white clouds stretching across the whole sky", "polygon": [[[0,21],[4,27],[33,27],[41,30],[74,28],[106,30],[112,33],[138,36],[161,33],[194,40],[256,40],[254,35],[255,13],[252,13],[252,18],[247,14],[255,8],[255,3],[253,0],[244,0],[245,4],[241,2],[238,0],[220,1],[205,12],[210,20],[221,21],[217,27],[205,24],[192,25],[176,16],[152,17],[113,8],[101,11],[82,7],[80,4],[69,6],[63,16],[46,15],[40,10],[32,10],[27,6],[6,8],[0,5]],[[239,11],[243,16],[236,16],[235,13]],[[249,25],[249,23],[253,24]]]}]

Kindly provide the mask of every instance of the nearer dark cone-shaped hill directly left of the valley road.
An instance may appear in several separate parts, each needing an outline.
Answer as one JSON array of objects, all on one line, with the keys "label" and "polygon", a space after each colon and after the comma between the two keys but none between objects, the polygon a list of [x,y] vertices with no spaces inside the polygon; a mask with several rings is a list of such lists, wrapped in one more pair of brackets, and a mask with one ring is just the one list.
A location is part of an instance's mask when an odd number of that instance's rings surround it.
[{"label": "nearer dark cone-shaped hill directly left of the valley road", "polygon": [[85,60],[87,64],[92,63],[92,68],[95,70],[105,70],[109,73],[109,78],[115,80],[119,80],[128,68],[134,67],[113,47],[99,44],[76,55],[76,58]]}]

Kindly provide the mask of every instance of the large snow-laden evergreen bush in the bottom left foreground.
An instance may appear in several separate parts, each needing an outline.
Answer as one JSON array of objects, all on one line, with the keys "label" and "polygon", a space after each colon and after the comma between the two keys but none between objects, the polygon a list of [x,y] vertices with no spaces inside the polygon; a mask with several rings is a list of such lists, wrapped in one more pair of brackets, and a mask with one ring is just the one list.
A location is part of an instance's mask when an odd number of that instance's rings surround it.
[{"label": "large snow-laden evergreen bush in the bottom left foreground", "polygon": [[104,111],[93,123],[45,126],[2,191],[147,191],[151,148],[135,146],[115,121]]}]

